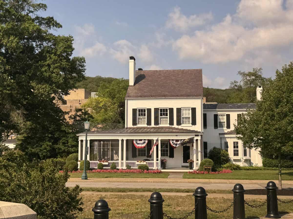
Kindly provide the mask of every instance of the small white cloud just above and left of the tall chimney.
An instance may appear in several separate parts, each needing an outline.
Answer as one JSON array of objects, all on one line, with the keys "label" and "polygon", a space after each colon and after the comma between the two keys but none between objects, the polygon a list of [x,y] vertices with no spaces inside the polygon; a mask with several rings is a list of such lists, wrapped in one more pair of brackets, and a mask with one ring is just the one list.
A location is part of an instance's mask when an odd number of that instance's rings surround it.
[{"label": "small white cloud just above and left of the tall chimney", "polygon": [[110,49],[110,53],[113,55],[113,58],[118,60],[120,63],[127,64],[129,56],[135,57],[134,51],[136,51],[136,47],[129,41],[122,39],[116,41],[113,45],[113,48]]}]

